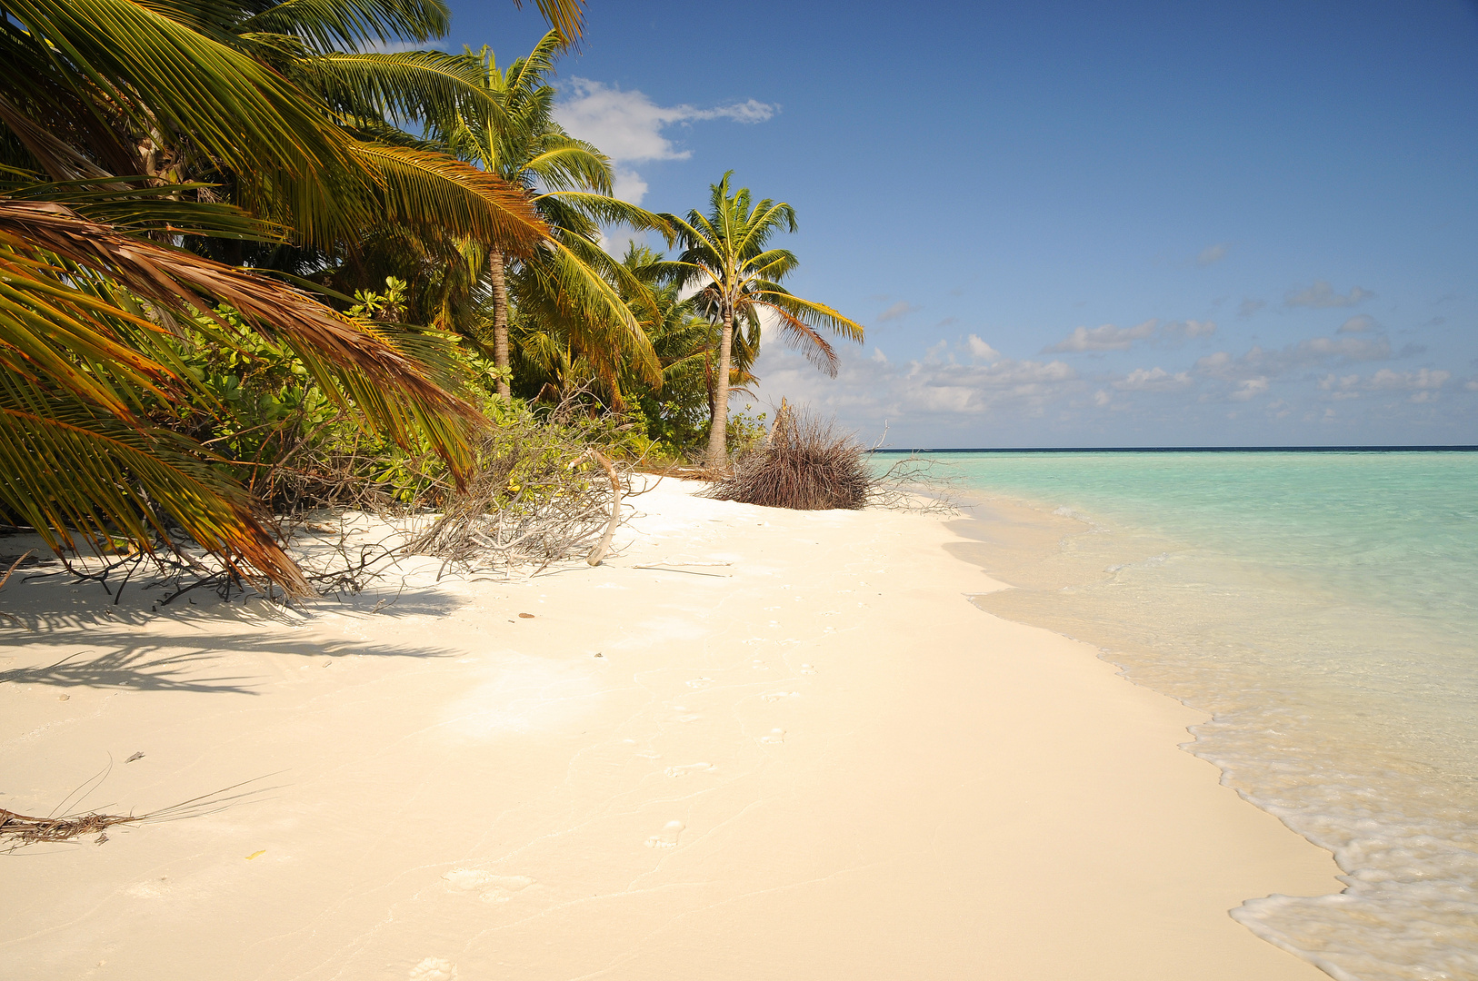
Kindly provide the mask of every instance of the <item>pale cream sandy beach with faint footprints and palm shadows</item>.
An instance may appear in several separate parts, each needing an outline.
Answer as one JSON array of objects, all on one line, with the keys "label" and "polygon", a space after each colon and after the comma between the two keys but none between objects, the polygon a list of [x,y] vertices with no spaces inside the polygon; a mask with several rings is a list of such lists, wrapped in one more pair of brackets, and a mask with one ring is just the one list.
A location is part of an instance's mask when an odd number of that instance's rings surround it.
[{"label": "pale cream sandy beach with faint footprints and palm shadows", "polygon": [[693,489],[597,569],[417,560],[378,612],[399,572],[299,613],[12,579],[0,807],[265,779],[0,854],[0,975],[1324,977],[1227,915],[1339,882],[1178,748],[1197,712],[973,607],[937,517]]}]

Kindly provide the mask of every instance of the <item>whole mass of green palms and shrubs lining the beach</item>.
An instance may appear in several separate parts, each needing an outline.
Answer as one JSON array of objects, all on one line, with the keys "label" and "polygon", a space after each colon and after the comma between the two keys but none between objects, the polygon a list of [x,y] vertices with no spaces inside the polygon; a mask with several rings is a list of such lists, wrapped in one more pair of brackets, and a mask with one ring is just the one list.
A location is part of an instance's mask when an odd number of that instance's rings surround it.
[{"label": "whole mass of green palms and shrubs lining the beach", "polygon": [[454,493],[520,403],[720,465],[766,313],[835,374],[822,331],[862,328],[779,285],[794,210],[729,174],[706,216],[615,198],[554,118],[582,0],[538,7],[500,66],[384,50],[443,37],[442,0],[7,0],[0,523],[302,595],[273,514],[319,485]]}]

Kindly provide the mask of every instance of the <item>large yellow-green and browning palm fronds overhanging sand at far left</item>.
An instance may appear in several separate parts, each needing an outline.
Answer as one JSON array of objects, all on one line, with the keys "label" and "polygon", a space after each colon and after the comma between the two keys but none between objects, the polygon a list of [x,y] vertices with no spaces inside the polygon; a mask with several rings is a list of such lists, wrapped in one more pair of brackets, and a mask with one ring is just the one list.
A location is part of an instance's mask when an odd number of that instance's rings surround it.
[{"label": "large yellow-green and browning palm fronds overhanging sand at far left", "polygon": [[[578,28],[578,0],[539,7]],[[210,402],[179,360],[171,318],[231,304],[367,428],[398,442],[418,433],[455,474],[470,467],[466,434],[480,417],[387,329],[177,244],[337,245],[390,220],[535,251],[547,226],[522,191],[406,145],[383,114],[347,115],[327,81],[307,84],[313,71],[327,75],[313,62],[334,38],[436,35],[445,6],[7,0],[6,10],[0,511],[56,551],[72,548],[74,533],[114,532],[149,548],[168,517],[234,570],[304,592],[262,505],[208,451],[148,418],[151,400]],[[421,61],[418,77],[436,75],[436,59]],[[454,75],[440,75],[448,99],[486,102]],[[395,90],[378,92],[393,100]],[[225,179],[235,204],[189,180],[198,176]],[[231,343],[225,331],[216,338]]]}]

